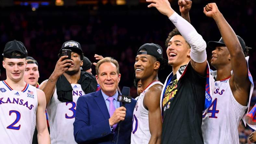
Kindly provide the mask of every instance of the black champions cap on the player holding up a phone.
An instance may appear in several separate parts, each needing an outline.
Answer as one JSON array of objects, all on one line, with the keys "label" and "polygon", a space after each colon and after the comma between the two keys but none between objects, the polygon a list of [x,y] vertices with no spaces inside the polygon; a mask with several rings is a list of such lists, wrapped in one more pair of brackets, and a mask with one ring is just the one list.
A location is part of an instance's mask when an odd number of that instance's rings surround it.
[{"label": "black champions cap on the player holding up a phone", "polygon": [[68,49],[68,50],[71,50],[72,52],[76,52],[76,53],[81,54],[81,55],[83,54],[83,50],[81,48],[80,43],[76,42],[76,41],[64,42],[62,44],[61,49],[59,50],[59,53],[61,53],[62,49]]}]

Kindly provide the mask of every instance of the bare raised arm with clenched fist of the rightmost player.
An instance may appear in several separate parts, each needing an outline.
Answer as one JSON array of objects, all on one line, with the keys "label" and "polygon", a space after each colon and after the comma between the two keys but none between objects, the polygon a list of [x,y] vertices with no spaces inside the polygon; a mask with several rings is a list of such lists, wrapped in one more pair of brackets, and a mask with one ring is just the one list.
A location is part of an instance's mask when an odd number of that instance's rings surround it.
[{"label": "bare raised arm with clenched fist of the rightmost player", "polygon": [[206,7],[204,7],[204,13],[207,17],[211,17],[215,20],[223,41],[230,53],[230,61],[233,70],[233,75],[230,78],[232,93],[237,102],[246,105],[250,90],[250,80],[248,77],[247,62],[237,35],[227,23],[215,3],[206,5]]}]

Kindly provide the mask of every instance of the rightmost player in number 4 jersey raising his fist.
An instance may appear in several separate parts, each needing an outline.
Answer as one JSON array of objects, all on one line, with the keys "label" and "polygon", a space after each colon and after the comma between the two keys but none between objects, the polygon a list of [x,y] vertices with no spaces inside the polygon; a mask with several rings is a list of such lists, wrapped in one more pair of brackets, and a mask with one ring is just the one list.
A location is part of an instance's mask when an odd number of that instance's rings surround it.
[{"label": "rightmost player in number 4 jersey raising his fist", "polygon": [[[202,132],[205,144],[239,144],[238,125],[248,108],[253,81],[248,69],[248,47],[227,23],[215,3],[204,7],[204,14],[213,18],[222,38],[209,42],[211,65],[215,79],[213,99],[203,113]],[[249,104],[250,105],[250,104]]]}]

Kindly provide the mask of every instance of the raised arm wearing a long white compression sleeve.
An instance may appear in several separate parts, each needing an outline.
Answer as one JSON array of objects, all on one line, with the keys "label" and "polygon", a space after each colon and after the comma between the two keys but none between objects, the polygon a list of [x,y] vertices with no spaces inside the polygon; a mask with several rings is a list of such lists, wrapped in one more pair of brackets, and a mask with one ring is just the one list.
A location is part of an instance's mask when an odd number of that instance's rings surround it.
[{"label": "raised arm wearing a long white compression sleeve", "polygon": [[168,0],[146,0],[151,3],[148,7],[156,7],[158,11],[166,15],[179,30],[186,42],[191,46],[190,58],[193,69],[201,76],[206,74],[207,55],[206,42],[202,36],[198,34],[196,29],[187,22],[184,18],[179,16],[171,7]]}]

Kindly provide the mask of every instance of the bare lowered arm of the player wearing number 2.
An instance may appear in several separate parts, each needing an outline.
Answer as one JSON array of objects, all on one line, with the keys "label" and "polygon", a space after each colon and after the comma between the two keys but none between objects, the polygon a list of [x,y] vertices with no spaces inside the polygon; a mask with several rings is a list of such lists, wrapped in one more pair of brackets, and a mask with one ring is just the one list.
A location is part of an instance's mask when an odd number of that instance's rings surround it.
[{"label": "bare lowered arm of the player wearing number 2", "polygon": [[45,93],[42,90],[37,89],[37,101],[38,106],[36,110],[36,128],[38,131],[37,139],[38,144],[50,144],[50,135],[47,128],[46,116],[45,116]]}]

